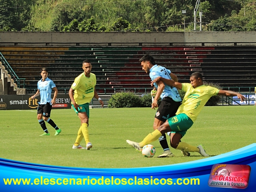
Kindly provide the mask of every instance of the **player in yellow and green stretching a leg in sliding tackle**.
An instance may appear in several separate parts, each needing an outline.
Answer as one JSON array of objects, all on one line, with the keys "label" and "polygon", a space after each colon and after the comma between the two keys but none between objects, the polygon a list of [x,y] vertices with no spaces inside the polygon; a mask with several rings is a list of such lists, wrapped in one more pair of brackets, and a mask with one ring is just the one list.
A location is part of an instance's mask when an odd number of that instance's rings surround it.
[{"label": "player in yellow and green stretching a leg in sliding tackle", "polygon": [[163,133],[171,132],[170,138],[171,146],[173,148],[187,152],[198,152],[204,157],[208,157],[209,155],[205,152],[202,145],[197,147],[191,146],[188,143],[180,142],[181,138],[193,125],[197,116],[203,109],[203,106],[212,96],[237,96],[241,99],[241,101],[244,101],[245,97],[234,91],[219,90],[211,86],[205,86],[203,84],[202,74],[199,72],[195,72],[190,76],[190,83],[178,83],[170,79],[158,77],[151,82],[151,85],[153,85],[154,82],[158,82],[159,80],[169,86],[176,87],[186,92],[182,100],[182,104],[177,110],[176,116],[168,118],[167,121],[155,129],[154,132],[148,134],[142,142],[136,143],[127,140],[127,143],[134,147],[136,150],[141,151],[144,145],[157,140]]}]

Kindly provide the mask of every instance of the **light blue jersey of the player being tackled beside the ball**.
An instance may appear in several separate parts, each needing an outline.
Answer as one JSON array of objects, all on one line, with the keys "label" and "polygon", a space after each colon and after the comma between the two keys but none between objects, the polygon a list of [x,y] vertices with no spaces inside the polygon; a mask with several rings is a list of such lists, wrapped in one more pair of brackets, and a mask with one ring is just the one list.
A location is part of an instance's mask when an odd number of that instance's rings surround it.
[{"label": "light blue jersey of the player being tackled beside the ball", "polygon": [[[154,80],[155,78],[161,76],[162,78],[165,79],[172,79],[170,77],[171,71],[169,69],[166,69],[165,67],[162,67],[160,65],[154,65],[150,69],[150,78]],[[158,85],[157,83],[154,83],[154,86],[157,88]],[[176,87],[170,87],[169,85],[165,84],[165,89],[163,90],[163,93],[160,95],[161,99],[165,97],[170,97],[173,99],[173,101],[181,101],[180,95],[176,89]]]}]

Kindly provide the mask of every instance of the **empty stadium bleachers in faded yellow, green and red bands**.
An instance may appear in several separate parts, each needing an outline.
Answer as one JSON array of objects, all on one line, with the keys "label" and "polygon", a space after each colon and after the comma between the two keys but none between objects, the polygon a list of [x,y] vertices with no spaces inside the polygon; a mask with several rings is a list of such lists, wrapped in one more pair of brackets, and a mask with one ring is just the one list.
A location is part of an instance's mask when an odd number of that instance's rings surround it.
[{"label": "empty stadium bleachers in faded yellow, green and red bands", "polygon": [[[208,82],[223,87],[255,87],[256,48],[227,47],[54,47],[3,46],[1,53],[20,78],[26,78],[28,93],[37,89],[40,68],[49,69],[51,78],[61,92],[69,90],[76,76],[83,72],[82,61],[89,59],[97,76],[99,93],[114,89],[151,89],[150,78],[138,60],[151,54],[158,65],[170,69],[179,82],[189,82],[192,72],[200,71]],[[140,89],[138,89],[140,91]]]}]

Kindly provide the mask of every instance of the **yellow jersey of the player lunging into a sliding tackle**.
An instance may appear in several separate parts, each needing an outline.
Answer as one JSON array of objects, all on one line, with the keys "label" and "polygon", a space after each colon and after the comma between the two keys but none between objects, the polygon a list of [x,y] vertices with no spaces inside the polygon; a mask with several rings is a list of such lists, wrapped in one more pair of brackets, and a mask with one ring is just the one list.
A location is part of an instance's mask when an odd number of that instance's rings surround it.
[{"label": "yellow jersey of the player lunging into a sliding tackle", "polygon": [[215,87],[201,85],[194,89],[190,83],[182,83],[182,91],[186,94],[176,114],[185,113],[193,122],[207,101],[219,93]]}]

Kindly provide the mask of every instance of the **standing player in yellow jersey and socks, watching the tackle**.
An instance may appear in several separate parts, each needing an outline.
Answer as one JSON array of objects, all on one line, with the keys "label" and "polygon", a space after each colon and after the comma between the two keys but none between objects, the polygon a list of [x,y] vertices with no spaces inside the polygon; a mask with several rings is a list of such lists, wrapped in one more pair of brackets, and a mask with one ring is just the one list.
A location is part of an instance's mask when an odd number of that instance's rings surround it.
[{"label": "standing player in yellow jersey and socks, watching the tackle", "polygon": [[80,145],[80,142],[84,138],[86,142],[86,150],[90,150],[93,145],[89,140],[88,132],[89,103],[93,97],[99,100],[99,103],[101,103],[102,107],[103,102],[95,90],[96,76],[91,73],[91,62],[89,60],[84,60],[82,68],[84,72],[75,78],[75,81],[68,92],[72,107],[76,114],[78,114],[78,117],[81,121],[81,127],[78,130],[78,136],[72,148],[85,149]]}]

